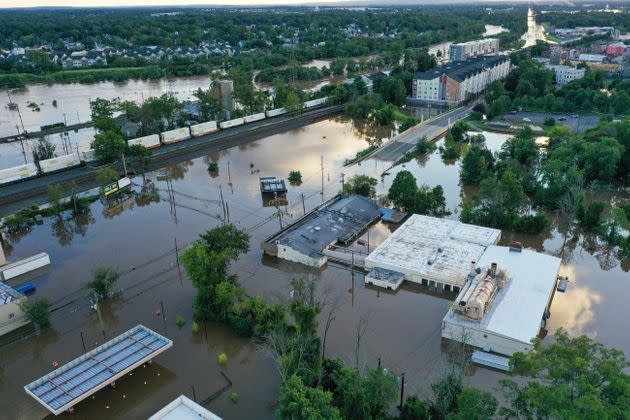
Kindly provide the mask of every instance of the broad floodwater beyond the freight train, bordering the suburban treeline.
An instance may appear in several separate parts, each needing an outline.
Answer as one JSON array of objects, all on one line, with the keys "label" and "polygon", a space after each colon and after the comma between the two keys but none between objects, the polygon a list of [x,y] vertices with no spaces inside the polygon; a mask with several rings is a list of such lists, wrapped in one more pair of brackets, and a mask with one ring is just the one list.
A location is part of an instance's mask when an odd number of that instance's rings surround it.
[{"label": "broad floodwater beyond the freight train, bordering the suburban treeline", "polygon": [[[0,137],[27,131],[39,131],[42,125],[65,122],[67,125],[90,120],[90,100],[96,98],[142,102],[152,96],[171,92],[180,100],[192,99],[198,88],[210,86],[208,76],[178,77],[160,80],[129,80],[123,83],[28,85],[21,89],[0,90]],[[9,97],[18,104],[20,112],[8,109]],[[53,105],[57,101],[57,106]],[[29,108],[39,105],[40,111]],[[22,121],[20,121],[20,114]],[[18,127],[18,128],[16,128]]]}]

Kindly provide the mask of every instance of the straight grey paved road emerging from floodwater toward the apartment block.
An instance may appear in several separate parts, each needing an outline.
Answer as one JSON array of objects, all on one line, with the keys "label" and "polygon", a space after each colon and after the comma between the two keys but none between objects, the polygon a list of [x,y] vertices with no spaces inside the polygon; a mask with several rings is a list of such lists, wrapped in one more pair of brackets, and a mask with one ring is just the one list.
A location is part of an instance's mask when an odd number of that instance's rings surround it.
[{"label": "straight grey paved road emerging from floodwater toward the apartment block", "polygon": [[466,106],[457,108],[454,111],[449,111],[443,115],[420,123],[414,127],[411,127],[407,131],[403,131],[391,141],[384,144],[376,152],[372,153],[369,158],[397,161],[414,148],[418,140],[422,137],[426,137],[432,141],[440,137],[446,132],[449,124],[454,124],[457,121],[466,118],[470,115],[472,106]]}]

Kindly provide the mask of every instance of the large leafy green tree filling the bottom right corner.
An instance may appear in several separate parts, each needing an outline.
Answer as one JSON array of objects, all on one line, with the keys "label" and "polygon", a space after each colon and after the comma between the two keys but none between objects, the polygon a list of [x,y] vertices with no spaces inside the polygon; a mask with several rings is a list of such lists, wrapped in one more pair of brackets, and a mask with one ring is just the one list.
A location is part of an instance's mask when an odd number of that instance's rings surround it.
[{"label": "large leafy green tree filling the bottom right corner", "polygon": [[515,353],[511,374],[522,384],[501,381],[510,407],[499,415],[520,418],[627,418],[630,415],[630,364],[623,352],[586,336],[571,338],[560,329],[555,341]]}]

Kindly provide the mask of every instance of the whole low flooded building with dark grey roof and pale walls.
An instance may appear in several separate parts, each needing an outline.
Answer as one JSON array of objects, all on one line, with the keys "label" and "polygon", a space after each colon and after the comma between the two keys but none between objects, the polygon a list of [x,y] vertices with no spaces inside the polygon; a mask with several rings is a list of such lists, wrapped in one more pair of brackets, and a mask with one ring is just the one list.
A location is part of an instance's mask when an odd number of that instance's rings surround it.
[{"label": "whole low flooded building with dark grey roof and pale walls", "polygon": [[331,245],[349,244],[380,216],[378,204],[369,198],[337,195],[265,239],[261,247],[267,255],[321,267]]}]

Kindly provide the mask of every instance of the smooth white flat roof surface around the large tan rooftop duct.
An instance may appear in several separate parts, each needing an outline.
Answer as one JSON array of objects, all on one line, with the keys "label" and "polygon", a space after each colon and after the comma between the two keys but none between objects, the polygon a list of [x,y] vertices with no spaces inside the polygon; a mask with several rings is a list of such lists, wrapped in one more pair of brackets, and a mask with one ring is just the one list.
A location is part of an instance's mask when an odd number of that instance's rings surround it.
[{"label": "smooth white flat roof surface around the large tan rooftop duct", "polygon": [[[556,286],[560,262],[560,258],[536,251],[510,252],[509,247],[489,246],[478,266],[489,267],[497,263],[499,268],[507,270],[509,280],[505,287],[497,293],[481,321],[473,321],[449,309],[444,322],[531,343],[540,332],[542,316]],[[459,300],[460,296],[455,301]]]}]

